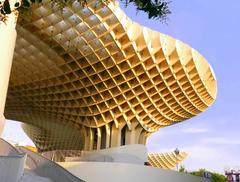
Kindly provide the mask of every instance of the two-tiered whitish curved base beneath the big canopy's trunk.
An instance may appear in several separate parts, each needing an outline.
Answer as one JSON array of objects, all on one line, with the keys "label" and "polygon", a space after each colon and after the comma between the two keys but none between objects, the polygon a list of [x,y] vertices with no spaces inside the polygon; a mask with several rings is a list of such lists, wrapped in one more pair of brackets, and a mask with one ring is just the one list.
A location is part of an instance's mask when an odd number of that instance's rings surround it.
[{"label": "two-tiered whitish curved base beneath the big canopy's trunk", "polygon": [[[106,160],[108,159],[108,160]],[[87,182],[203,182],[203,178],[145,166],[147,148],[126,145],[111,149],[83,152],[80,158],[67,158],[59,164]]]}]

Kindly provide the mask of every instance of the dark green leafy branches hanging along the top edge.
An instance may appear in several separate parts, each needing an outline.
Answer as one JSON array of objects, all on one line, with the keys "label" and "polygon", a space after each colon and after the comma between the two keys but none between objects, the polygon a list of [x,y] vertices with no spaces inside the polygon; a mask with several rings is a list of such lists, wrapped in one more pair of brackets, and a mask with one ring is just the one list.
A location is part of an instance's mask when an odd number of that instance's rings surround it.
[{"label": "dark green leafy branches hanging along the top edge", "polygon": [[[9,4],[10,0],[5,0],[3,3],[0,4],[0,14],[2,16],[6,16],[7,14],[11,13],[11,8]],[[53,5],[58,7],[64,8],[67,6],[68,3],[72,3],[75,0],[52,0]],[[87,0],[77,0],[82,7],[84,7],[87,3]],[[114,0],[96,0],[99,2],[110,2]],[[125,3],[128,6],[132,3],[137,11],[143,11],[148,14],[149,19],[159,19],[160,21],[166,21],[167,16],[171,14],[169,10],[169,1],[167,0],[120,0],[121,2]],[[22,0],[20,4],[17,2],[15,4],[15,9],[21,8],[23,10],[28,10],[31,4],[34,3],[41,3],[42,0]]]}]

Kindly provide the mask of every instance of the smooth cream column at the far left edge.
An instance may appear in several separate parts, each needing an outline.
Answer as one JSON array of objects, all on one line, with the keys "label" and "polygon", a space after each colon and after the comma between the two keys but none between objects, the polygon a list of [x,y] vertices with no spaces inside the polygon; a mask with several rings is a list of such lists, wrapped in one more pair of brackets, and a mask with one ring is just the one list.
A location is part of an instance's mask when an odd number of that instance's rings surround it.
[{"label": "smooth cream column at the far left edge", "polygon": [[17,33],[15,27],[0,22],[0,135]]}]

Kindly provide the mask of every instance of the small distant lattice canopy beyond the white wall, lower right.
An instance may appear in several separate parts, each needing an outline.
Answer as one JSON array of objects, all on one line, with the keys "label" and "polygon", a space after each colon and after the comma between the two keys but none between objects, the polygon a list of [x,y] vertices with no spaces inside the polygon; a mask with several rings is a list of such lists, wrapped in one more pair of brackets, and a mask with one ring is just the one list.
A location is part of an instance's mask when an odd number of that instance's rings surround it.
[{"label": "small distant lattice canopy beyond the white wall, lower right", "polygon": [[151,166],[163,169],[174,169],[180,162],[187,158],[186,152],[176,155],[174,152],[148,154],[148,162]]}]

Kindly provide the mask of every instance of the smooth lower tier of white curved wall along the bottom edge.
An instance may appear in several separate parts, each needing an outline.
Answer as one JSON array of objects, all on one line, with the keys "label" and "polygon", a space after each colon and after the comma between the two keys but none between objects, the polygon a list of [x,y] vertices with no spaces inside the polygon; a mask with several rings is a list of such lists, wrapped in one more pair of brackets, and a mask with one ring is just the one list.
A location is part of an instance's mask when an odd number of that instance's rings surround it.
[{"label": "smooth lower tier of white curved wall along the bottom edge", "polygon": [[207,182],[207,180],[149,166],[102,162],[59,163],[87,182]]}]

